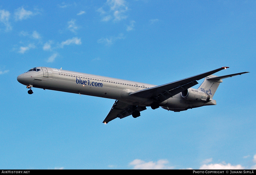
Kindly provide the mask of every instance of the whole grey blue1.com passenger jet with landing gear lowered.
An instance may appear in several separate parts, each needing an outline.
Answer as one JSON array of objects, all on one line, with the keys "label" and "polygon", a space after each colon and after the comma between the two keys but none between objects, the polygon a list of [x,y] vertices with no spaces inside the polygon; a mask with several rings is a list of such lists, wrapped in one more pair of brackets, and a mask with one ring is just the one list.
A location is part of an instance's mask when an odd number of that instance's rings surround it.
[{"label": "whole grey blue1.com passenger jet with landing gear lowered", "polygon": [[[33,94],[32,87],[115,99],[115,102],[102,123],[115,118],[132,115],[139,117],[148,106],[152,109],[162,107],[168,111],[180,112],[195,107],[216,105],[212,99],[222,79],[241,75],[241,72],[224,76],[212,75],[229,67],[221,67],[209,72],[184,78],[163,85],[151,85],[134,81],[91,75],[48,67],[35,67],[19,75],[19,83],[27,86],[28,93]],[[197,88],[197,80],[205,78]]]}]

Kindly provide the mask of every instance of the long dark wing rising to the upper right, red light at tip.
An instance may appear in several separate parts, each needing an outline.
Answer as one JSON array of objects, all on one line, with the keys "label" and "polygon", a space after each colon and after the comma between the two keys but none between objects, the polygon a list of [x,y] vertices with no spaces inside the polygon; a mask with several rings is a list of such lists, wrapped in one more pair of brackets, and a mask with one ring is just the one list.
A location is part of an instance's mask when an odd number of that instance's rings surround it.
[{"label": "long dark wing rising to the upper right, red light at tip", "polygon": [[164,85],[155,86],[155,87],[143,89],[140,91],[135,91],[135,92],[130,93],[130,95],[133,95],[136,97],[141,97],[141,98],[151,98],[151,99],[153,98],[158,103],[161,103],[161,102],[167,100],[168,98],[198,84],[198,82],[196,80],[200,80],[202,78],[205,78],[209,75],[212,75],[216,72],[219,72],[219,71],[221,71],[223,69],[227,69],[227,68],[229,68],[229,67],[222,67],[222,68],[215,69],[215,70],[212,70],[209,72],[205,72],[205,73],[202,73],[199,75],[181,79],[181,80],[178,80],[178,81],[175,81],[172,83],[167,83]]}]

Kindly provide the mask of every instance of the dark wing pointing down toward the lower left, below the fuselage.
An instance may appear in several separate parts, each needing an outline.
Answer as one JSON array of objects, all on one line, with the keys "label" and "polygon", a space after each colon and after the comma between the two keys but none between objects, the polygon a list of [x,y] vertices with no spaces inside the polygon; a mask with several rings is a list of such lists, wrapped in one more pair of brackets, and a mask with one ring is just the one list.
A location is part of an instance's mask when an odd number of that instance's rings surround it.
[{"label": "dark wing pointing down toward the lower left, below the fuselage", "polygon": [[111,110],[109,111],[109,114],[106,116],[106,118],[102,123],[108,123],[111,120],[114,120],[115,118],[118,118],[118,117],[121,119],[129,115],[132,115],[132,112],[135,109],[141,112],[146,110],[147,108],[145,106],[134,106],[134,105],[130,105],[130,104],[121,102],[119,100],[116,100]]}]

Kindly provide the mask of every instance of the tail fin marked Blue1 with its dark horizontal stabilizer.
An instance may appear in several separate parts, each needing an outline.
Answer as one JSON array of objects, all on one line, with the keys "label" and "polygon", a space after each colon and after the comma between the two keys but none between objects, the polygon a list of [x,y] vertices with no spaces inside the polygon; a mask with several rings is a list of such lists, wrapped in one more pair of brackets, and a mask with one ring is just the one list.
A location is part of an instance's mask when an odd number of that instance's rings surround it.
[{"label": "tail fin marked Blue1 with its dark horizontal stabilizer", "polygon": [[208,77],[205,77],[204,82],[199,86],[198,90],[209,94],[212,99],[217,88],[219,87],[219,84],[222,82],[222,79],[245,74],[245,73],[249,73],[249,72],[241,72],[237,74],[230,74],[230,75],[223,75],[223,76],[210,75]]}]

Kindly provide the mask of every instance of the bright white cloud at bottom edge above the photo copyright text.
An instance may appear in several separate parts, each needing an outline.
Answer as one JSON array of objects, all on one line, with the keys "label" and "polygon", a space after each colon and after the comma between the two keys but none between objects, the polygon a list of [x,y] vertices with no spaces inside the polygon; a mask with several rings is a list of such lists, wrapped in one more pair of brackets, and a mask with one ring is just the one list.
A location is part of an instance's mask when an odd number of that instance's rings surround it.
[{"label": "bright white cloud at bottom edge above the photo copyright text", "polygon": [[241,170],[244,169],[242,165],[231,165],[230,163],[226,164],[225,162],[219,164],[209,164],[202,165],[199,169],[210,170],[210,169],[219,169],[219,170]]}]

